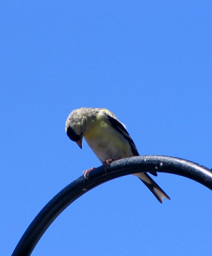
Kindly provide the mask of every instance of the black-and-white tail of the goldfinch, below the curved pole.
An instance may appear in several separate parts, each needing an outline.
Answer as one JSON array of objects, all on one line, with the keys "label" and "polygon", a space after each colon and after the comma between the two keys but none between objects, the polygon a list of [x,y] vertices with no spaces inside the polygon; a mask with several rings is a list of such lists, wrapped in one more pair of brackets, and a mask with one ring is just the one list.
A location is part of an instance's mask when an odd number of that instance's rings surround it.
[{"label": "black-and-white tail of the goldfinch, below the curved pole", "polygon": [[166,195],[163,189],[161,189],[146,172],[135,173],[134,175],[139,177],[161,204],[163,203],[163,198],[170,200],[170,197]]}]

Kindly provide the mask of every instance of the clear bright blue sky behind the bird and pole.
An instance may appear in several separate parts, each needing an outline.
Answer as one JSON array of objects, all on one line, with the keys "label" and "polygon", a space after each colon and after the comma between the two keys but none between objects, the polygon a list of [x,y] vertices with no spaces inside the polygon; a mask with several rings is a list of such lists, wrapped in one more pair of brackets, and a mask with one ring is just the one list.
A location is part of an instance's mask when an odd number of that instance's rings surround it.
[{"label": "clear bright blue sky behind the bird and pole", "polygon": [[[210,1],[1,3],[0,254],[10,255],[44,205],[99,160],[65,134],[70,111],[103,107],[141,155],[212,167]],[[184,177],[134,176],[70,205],[33,251],[40,255],[212,254],[212,192]]]}]

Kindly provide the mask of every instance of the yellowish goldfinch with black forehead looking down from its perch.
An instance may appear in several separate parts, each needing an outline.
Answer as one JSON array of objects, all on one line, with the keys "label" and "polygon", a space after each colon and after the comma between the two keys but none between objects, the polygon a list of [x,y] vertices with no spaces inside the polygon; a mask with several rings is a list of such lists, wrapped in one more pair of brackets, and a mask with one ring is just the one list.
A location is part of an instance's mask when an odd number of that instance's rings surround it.
[{"label": "yellowish goldfinch with black forehead looking down from its perch", "polygon": [[[105,108],[73,110],[66,120],[66,133],[80,148],[84,137],[102,163],[139,155],[126,126]],[[84,172],[85,177],[90,170]],[[151,174],[157,176],[157,173]],[[142,180],[160,203],[163,203],[163,198],[170,199],[146,172],[134,175]]]}]

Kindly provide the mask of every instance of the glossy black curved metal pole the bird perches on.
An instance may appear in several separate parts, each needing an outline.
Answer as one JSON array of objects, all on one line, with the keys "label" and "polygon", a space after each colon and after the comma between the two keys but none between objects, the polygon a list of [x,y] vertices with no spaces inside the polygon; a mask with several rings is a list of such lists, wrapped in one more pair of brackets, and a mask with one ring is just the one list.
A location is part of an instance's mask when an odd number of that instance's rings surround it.
[{"label": "glossy black curved metal pole the bird perches on", "polygon": [[117,177],[137,172],[153,171],[188,177],[212,189],[211,170],[188,160],[149,155],[114,161],[108,166],[100,166],[94,169],[89,173],[88,179],[84,176],[79,177],[55,195],[29,225],[15,247],[12,256],[29,256],[55,218],[90,189]]}]

